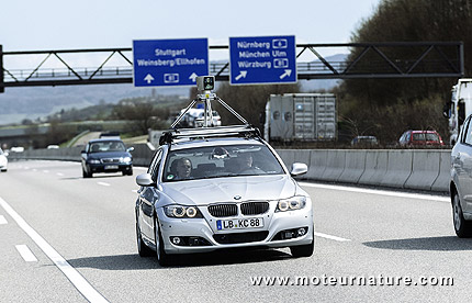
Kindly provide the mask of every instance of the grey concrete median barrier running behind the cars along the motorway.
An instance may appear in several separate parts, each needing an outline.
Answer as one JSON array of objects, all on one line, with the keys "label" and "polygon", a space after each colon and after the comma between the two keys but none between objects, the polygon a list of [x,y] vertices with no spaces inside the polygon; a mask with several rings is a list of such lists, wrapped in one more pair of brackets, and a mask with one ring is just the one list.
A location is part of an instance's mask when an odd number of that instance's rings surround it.
[{"label": "grey concrete median barrier running behind the cars along the motorway", "polygon": [[[148,166],[154,150],[130,145],[135,166]],[[80,161],[80,147],[11,153],[9,158]],[[290,169],[305,162],[305,180],[448,192],[450,150],[447,149],[278,149]]]}]

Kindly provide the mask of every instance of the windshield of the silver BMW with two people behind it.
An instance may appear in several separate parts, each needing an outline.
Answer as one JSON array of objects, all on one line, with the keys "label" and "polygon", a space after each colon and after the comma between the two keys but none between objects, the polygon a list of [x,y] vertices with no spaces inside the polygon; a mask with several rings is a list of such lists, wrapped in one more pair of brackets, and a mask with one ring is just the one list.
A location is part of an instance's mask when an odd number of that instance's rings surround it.
[{"label": "windshield of the silver BMW with two people behind it", "polygon": [[211,146],[170,152],[164,182],[280,173],[283,169],[267,146]]}]

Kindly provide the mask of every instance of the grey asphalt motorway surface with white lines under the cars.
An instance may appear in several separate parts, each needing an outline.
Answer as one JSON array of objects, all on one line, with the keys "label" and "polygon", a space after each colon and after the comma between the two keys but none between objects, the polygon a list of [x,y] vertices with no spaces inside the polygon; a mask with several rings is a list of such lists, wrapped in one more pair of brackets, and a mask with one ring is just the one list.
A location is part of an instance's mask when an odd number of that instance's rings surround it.
[{"label": "grey asphalt motorway surface with white lines under the cars", "polygon": [[[144,171],[135,168],[135,176]],[[295,259],[289,249],[225,251],[161,268],[137,255],[135,176],[82,179],[78,162],[11,162],[0,173],[0,302],[472,296],[472,239],[454,236],[446,197],[303,182],[315,203],[313,257]]]}]

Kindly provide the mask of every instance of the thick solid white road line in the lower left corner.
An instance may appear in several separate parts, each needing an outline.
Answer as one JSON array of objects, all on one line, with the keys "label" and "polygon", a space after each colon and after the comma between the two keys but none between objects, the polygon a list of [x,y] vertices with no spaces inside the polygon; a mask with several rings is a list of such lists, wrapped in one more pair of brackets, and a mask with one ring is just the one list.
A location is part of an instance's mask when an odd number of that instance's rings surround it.
[{"label": "thick solid white road line in the lower left corner", "polygon": [[41,250],[63,271],[76,289],[89,302],[108,302],[90,283],[63,258],[36,231],[34,231],[3,199],[0,205],[16,222],[16,224],[36,243]]}]

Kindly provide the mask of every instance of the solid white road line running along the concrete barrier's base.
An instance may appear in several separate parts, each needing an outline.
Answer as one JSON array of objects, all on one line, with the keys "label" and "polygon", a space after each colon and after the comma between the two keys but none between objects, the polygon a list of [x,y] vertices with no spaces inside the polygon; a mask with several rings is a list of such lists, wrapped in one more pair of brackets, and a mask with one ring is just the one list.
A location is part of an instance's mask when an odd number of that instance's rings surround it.
[{"label": "solid white road line running along the concrete barrier's base", "polygon": [[419,199],[419,200],[432,200],[432,201],[441,201],[441,202],[450,202],[450,198],[440,197],[440,195],[429,195],[422,193],[408,193],[408,192],[396,192],[396,191],[386,191],[386,190],[373,190],[373,189],[360,189],[360,188],[350,188],[344,186],[329,186],[329,184],[314,184],[300,182],[302,187],[308,188],[319,188],[319,189],[331,189],[331,190],[340,190],[340,191],[350,191],[350,192],[361,192],[361,193],[371,193],[371,194],[381,194],[381,195],[390,195],[390,197],[398,197],[398,198],[411,198],[411,199]]}]

